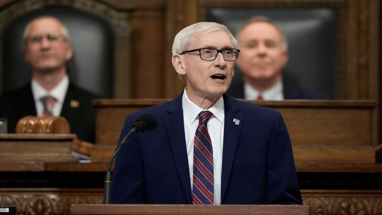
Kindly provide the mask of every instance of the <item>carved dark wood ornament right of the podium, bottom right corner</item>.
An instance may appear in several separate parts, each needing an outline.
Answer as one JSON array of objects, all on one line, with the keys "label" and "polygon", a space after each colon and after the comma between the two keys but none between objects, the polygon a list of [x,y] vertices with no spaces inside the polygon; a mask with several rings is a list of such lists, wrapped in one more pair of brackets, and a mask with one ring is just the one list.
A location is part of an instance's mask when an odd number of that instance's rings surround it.
[{"label": "carved dark wood ornament right of the podium, bottom right corner", "polygon": [[382,196],[379,197],[304,197],[312,215],[380,215]]}]

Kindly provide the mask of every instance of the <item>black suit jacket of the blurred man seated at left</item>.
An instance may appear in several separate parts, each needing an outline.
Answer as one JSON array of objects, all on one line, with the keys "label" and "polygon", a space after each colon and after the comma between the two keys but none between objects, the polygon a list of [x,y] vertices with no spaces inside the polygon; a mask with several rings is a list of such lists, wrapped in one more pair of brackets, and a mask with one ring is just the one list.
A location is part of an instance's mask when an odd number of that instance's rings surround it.
[{"label": "black suit jacket of the blurred man seated at left", "polygon": [[[69,83],[62,106],[61,116],[69,122],[70,132],[77,134],[80,140],[94,143],[95,108],[91,104],[94,94]],[[78,107],[70,102],[78,101]],[[0,97],[0,117],[8,119],[8,133],[15,133],[16,124],[24,116],[36,116],[31,83]]]}]

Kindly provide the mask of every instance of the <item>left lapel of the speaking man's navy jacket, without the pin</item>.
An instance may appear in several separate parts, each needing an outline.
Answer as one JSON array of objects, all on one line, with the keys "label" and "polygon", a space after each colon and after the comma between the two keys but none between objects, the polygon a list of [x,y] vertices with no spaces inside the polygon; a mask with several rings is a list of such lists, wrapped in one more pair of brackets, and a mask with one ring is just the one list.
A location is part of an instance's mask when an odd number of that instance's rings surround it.
[{"label": "left lapel of the speaking man's navy jacket, without the pin", "polygon": [[185,126],[183,122],[182,96],[183,93],[170,104],[167,111],[171,115],[166,117],[164,121],[183,191],[185,192],[188,203],[191,204],[191,182],[188,168]]}]

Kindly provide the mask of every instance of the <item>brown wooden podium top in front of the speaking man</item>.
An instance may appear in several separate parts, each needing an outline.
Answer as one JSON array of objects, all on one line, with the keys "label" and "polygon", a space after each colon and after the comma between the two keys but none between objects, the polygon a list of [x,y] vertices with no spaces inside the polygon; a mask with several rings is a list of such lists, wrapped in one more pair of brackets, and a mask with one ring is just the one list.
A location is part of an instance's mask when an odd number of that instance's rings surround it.
[{"label": "brown wooden podium top in front of the speaking man", "polygon": [[71,205],[72,215],[309,215],[308,205]]}]

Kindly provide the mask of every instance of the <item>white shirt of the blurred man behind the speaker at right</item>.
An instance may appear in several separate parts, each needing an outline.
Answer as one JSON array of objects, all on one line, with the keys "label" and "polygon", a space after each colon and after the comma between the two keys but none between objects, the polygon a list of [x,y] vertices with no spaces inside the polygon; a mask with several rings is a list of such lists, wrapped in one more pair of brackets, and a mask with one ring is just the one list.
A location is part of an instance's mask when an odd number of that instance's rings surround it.
[{"label": "white shirt of the blurred man behind the speaker at right", "polygon": [[261,94],[263,100],[284,100],[283,82],[278,81],[275,83],[275,85],[261,93],[260,91],[253,88],[253,86],[251,86],[249,83],[244,81],[244,99],[256,100],[259,94]]}]

